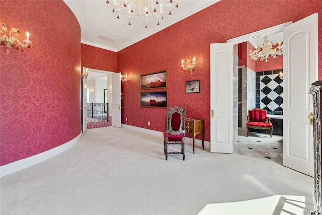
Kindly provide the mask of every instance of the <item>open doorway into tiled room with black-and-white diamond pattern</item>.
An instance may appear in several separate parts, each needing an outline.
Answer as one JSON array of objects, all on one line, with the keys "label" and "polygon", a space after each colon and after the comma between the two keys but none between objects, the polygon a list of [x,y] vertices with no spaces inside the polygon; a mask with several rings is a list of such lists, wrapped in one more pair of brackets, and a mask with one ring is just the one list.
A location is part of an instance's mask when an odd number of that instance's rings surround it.
[{"label": "open doorway into tiled room with black-and-white diamond pattern", "polygon": [[[273,44],[283,42],[283,32],[269,35]],[[273,161],[282,165],[283,160],[283,58],[268,58],[253,61],[249,50],[262,46],[263,37],[237,44],[238,47],[238,135],[233,144],[233,153]],[[248,65],[240,65],[245,62]],[[257,66],[265,71],[257,71]],[[280,69],[275,69],[280,68]],[[274,70],[272,70],[274,69]],[[236,87],[236,86],[234,86]],[[235,97],[235,96],[234,96]],[[266,130],[250,129],[247,136],[248,110],[261,108],[267,110],[274,126],[273,137],[266,135]],[[235,122],[234,122],[235,123]]]}]

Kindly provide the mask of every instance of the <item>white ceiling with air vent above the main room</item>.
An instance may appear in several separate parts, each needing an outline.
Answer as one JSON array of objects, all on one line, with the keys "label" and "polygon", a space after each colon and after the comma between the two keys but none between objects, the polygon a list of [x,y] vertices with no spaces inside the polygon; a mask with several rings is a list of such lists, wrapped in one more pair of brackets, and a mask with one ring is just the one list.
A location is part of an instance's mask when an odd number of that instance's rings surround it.
[{"label": "white ceiling with air vent above the main room", "polygon": [[[112,13],[112,6],[106,4],[106,0],[63,0],[77,18],[81,26],[82,43],[104,48],[111,51],[122,50],[152,34],[157,33],[217,2],[220,0],[180,0],[179,8],[171,11],[172,15],[164,16],[160,25],[156,25],[157,20],[152,15],[145,28],[144,20],[139,16],[134,16],[131,26],[124,14],[117,19]],[[152,0],[154,2],[155,0]],[[169,0],[164,0],[168,3]],[[124,1],[121,1],[124,2]],[[122,16],[123,15],[123,16]],[[100,34],[115,39],[109,42],[97,38]]]}]

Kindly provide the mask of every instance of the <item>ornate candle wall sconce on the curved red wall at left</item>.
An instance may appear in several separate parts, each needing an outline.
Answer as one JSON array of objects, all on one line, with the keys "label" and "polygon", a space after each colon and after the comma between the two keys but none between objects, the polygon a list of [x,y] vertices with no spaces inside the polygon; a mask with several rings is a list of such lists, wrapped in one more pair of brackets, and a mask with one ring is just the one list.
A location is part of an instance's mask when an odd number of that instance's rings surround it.
[{"label": "ornate candle wall sconce on the curved red wall at left", "polygon": [[24,50],[24,47],[30,48],[29,44],[32,42],[29,40],[29,32],[26,33],[26,39],[20,42],[16,36],[19,33],[19,29],[12,28],[9,33],[9,37],[7,36],[7,26],[3,23],[1,30],[0,30],[0,45],[5,45],[7,47],[7,53],[9,53],[9,48],[14,47],[16,45],[16,49],[19,50],[18,46],[21,46],[21,50]]}]

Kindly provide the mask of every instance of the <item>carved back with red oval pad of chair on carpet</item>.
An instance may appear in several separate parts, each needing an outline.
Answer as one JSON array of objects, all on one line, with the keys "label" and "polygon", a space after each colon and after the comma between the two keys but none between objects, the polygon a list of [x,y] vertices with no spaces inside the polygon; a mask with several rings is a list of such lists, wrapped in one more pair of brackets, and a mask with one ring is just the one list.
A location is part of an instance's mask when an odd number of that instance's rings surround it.
[{"label": "carved back with red oval pad of chair on carpet", "polygon": [[166,133],[179,135],[186,133],[186,107],[173,106],[167,108]]}]

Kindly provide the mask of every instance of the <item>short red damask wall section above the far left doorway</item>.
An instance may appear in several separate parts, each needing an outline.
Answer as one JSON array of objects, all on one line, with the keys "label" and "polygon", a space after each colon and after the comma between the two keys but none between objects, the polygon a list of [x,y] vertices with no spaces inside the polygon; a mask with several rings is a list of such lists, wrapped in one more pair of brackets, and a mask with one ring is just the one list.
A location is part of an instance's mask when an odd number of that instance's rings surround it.
[{"label": "short red damask wall section above the far left doorway", "polygon": [[116,71],[116,52],[82,43],[82,66]]}]

